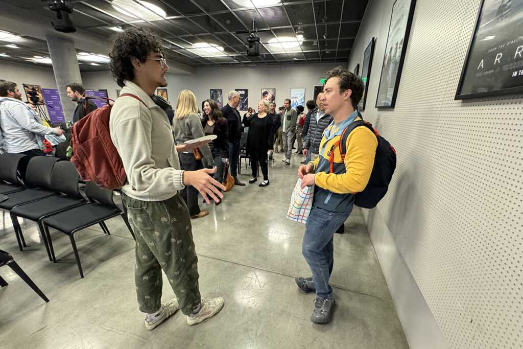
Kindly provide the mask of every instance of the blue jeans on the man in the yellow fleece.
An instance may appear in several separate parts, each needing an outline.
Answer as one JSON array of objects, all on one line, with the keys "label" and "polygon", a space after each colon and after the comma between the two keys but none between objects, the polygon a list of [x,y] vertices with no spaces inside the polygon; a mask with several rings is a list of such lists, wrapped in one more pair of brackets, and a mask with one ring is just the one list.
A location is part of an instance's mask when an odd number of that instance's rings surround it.
[{"label": "blue jeans on the man in the yellow fleece", "polygon": [[334,265],[333,236],[353,210],[352,206],[348,209],[348,212],[331,212],[312,206],[307,218],[301,253],[311,268],[317,297],[332,298],[328,279]]}]

